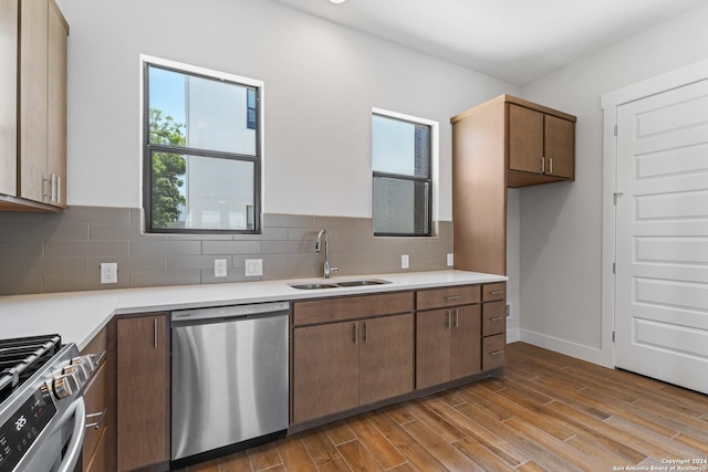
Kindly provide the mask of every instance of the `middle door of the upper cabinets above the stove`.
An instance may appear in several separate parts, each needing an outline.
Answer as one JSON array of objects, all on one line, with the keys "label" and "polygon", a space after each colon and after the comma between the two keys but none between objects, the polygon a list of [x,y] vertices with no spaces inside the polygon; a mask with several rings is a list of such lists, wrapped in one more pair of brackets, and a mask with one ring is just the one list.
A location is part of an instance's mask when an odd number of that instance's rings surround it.
[{"label": "middle door of the upper cabinets above the stove", "polygon": [[48,0],[20,9],[20,197],[44,201],[48,113]]}]

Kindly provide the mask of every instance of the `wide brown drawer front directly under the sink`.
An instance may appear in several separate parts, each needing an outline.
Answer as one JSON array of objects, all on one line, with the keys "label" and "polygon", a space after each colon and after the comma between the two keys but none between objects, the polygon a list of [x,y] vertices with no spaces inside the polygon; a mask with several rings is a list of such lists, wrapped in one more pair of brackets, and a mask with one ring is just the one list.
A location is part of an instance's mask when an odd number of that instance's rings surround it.
[{"label": "wide brown drawer front directly under the sink", "polygon": [[294,302],[292,318],[293,325],[298,326],[409,313],[412,311],[413,292],[396,292]]}]

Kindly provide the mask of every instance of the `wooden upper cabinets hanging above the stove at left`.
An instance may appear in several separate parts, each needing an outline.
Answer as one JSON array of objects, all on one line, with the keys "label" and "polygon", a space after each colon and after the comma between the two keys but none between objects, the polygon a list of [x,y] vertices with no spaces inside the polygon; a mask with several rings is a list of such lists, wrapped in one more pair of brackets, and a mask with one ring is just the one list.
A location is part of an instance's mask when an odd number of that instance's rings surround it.
[{"label": "wooden upper cabinets hanging above the stove at left", "polygon": [[0,209],[61,210],[69,25],[53,0],[0,0]]}]

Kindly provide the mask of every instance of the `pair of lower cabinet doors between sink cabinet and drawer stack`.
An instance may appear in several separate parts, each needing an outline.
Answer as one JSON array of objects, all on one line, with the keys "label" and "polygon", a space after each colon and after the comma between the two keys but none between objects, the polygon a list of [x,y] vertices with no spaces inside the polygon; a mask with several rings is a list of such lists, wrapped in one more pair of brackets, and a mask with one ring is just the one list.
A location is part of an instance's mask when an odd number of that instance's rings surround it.
[{"label": "pair of lower cabinet doors between sink cabinet and drawer stack", "polygon": [[416,388],[481,373],[480,305],[418,312]]}]

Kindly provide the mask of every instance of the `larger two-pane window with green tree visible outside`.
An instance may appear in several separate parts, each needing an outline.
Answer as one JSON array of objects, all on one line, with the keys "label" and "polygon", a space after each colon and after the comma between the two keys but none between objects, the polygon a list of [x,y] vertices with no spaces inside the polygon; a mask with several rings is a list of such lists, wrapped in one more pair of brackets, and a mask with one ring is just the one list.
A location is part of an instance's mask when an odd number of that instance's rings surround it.
[{"label": "larger two-pane window with green tree visible outside", "polygon": [[147,232],[260,232],[262,83],[144,59]]}]

